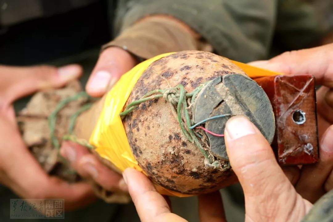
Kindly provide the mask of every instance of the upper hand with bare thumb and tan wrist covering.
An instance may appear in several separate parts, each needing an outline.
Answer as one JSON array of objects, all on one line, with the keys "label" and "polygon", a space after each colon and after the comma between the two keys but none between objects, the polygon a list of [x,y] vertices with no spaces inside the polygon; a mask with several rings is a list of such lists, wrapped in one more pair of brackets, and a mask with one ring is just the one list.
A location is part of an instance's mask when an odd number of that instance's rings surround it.
[{"label": "upper hand with bare thumb and tan wrist covering", "polygon": [[150,15],[139,19],[106,44],[109,47],[101,53],[86,91],[92,97],[103,96],[124,73],[137,65],[137,58],[122,48],[146,59],[166,52],[197,50],[198,47],[212,50],[199,39],[200,35],[186,23],[172,16]]}]

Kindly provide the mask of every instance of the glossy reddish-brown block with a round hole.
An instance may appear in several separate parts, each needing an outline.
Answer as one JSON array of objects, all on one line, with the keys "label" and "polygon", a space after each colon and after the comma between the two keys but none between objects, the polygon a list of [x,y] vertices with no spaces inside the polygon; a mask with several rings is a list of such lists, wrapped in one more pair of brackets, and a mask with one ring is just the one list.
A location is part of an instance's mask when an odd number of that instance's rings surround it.
[{"label": "glossy reddish-brown block with a round hole", "polygon": [[255,80],[268,95],[276,119],[272,147],[281,165],[318,161],[315,78],[272,76]]}]

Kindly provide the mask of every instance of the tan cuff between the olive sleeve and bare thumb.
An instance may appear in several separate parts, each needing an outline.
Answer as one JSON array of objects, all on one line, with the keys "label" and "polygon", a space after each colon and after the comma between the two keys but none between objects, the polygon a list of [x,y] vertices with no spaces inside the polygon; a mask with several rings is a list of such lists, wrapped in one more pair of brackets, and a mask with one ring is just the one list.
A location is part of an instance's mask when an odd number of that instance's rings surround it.
[{"label": "tan cuff between the olive sleeve and bare thumb", "polygon": [[138,21],[105,44],[102,50],[108,47],[123,48],[143,59],[183,50],[211,50],[185,24],[166,16],[152,16]]}]

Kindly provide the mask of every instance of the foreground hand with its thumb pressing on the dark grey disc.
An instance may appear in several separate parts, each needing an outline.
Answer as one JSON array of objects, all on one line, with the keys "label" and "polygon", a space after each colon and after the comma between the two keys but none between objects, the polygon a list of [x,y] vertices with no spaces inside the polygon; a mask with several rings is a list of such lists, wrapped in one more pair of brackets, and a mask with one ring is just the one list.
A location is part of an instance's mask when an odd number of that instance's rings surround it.
[{"label": "foreground hand with its thumb pressing on the dark grey disc", "polygon": [[[227,121],[224,135],[230,165],[244,190],[245,221],[300,221],[312,204],[296,192],[256,126],[235,116]],[[123,176],[141,221],[185,221],[171,213],[144,174],[126,169]],[[200,221],[226,221],[218,192],[198,198]]]}]

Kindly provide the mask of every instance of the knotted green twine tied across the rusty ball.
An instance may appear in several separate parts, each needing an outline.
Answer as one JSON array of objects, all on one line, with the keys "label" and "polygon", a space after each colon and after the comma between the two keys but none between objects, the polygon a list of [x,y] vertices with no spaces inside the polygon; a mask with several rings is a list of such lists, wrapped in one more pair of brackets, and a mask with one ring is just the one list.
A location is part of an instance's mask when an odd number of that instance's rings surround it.
[{"label": "knotted green twine tied across the rusty ball", "polygon": [[[191,128],[191,119],[188,114],[188,107],[187,107],[187,102],[186,98],[191,98],[191,104],[193,104],[196,96],[202,89],[204,85],[206,85],[208,82],[198,86],[195,88],[191,93],[186,93],[183,85],[177,85],[174,88],[169,88],[166,90],[153,90],[147,94],[145,94],[143,97],[141,97],[139,100],[134,101],[130,103],[123,112],[120,113],[120,116],[124,118],[127,114],[132,112],[135,108],[137,108],[141,103],[144,103],[149,100],[155,100],[164,97],[167,102],[170,103],[172,106],[176,106],[176,111],[177,111],[177,121],[179,123],[180,129],[184,136],[186,137],[187,140],[189,140],[191,143],[194,143],[196,147],[199,148],[203,156],[205,157],[206,160],[208,160],[209,163],[212,163],[212,160],[208,157],[208,152],[204,150],[202,147],[197,135]],[[167,95],[166,95],[167,94]],[[170,95],[170,97],[168,97]],[[177,101],[178,100],[178,101]],[[182,120],[182,116],[185,117],[185,123]]]}]

